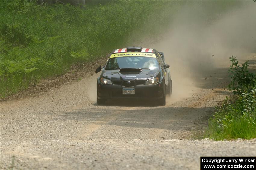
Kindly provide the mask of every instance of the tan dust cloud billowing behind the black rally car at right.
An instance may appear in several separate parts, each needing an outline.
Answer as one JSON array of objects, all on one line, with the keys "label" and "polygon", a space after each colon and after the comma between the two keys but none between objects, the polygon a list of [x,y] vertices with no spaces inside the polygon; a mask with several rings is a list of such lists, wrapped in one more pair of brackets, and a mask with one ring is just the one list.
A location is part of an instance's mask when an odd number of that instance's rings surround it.
[{"label": "tan dust cloud billowing behind the black rally car at right", "polygon": [[185,5],[158,43],[149,47],[164,52],[173,80],[171,101],[198,90],[196,81],[211,70],[228,67],[229,57],[241,59],[256,51],[256,3],[247,1],[210,23],[196,4]]}]

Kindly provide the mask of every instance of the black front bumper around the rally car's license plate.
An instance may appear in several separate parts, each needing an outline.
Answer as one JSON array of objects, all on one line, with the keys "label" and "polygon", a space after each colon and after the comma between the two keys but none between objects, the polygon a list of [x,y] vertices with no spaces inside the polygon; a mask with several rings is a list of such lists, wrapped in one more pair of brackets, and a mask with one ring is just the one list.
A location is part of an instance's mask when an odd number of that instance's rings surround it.
[{"label": "black front bumper around the rally car's license plate", "polygon": [[[134,88],[135,94],[123,94],[123,88]],[[121,85],[102,85],[97,83],[98,99],[113,98],[144,98],[144,99],[160,99],[164,95],[163,83],[156,85],[137,85],[135,87],[122,87]]]}]

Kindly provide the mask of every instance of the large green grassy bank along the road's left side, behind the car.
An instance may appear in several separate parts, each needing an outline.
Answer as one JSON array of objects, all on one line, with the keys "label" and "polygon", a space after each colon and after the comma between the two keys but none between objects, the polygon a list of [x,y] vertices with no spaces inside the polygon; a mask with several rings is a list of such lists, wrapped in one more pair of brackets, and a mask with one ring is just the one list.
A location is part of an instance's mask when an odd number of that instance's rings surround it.
[{"label": "large green grassy bank along the road's left side, behind the car", "polygon": [[[83,8],[2,0],[0,5],[0,98],[57,76],[113,49],[157,39],[185,4],[201,6],[211,21],[237,2],[104,1]],[[200,17],[200,16],[199,16]]]}]

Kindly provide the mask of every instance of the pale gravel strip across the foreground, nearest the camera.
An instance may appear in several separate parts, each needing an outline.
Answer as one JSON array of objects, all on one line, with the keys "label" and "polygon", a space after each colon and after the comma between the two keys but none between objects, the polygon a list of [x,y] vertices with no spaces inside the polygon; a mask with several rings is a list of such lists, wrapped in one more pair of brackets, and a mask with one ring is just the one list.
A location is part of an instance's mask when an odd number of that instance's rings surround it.
[{"label": "pale gravel strip across the foreground, nearest the camera", "polygon": [[48,140],[16,145],[7,142],[1,148],[4,153],[1,159],[2,167],[15,169],[199,169],[200,156],[255,156],[255,142],[177,139]]}]

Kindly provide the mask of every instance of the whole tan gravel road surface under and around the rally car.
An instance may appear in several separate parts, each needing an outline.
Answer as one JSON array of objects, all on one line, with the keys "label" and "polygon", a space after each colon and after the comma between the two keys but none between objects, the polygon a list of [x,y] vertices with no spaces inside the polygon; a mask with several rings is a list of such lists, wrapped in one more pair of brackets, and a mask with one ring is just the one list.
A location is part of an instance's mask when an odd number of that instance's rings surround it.
[{"label": "whole tan gravel road surface under and around the rally car", "polygon": [[173,79],[166,106],[98,106],[98,75],[1,102],[0,169],[200,169],[200,156],[256,156],[256,139],[193,140],[229,95],[226,71],[209,70],[180,88]]}]

